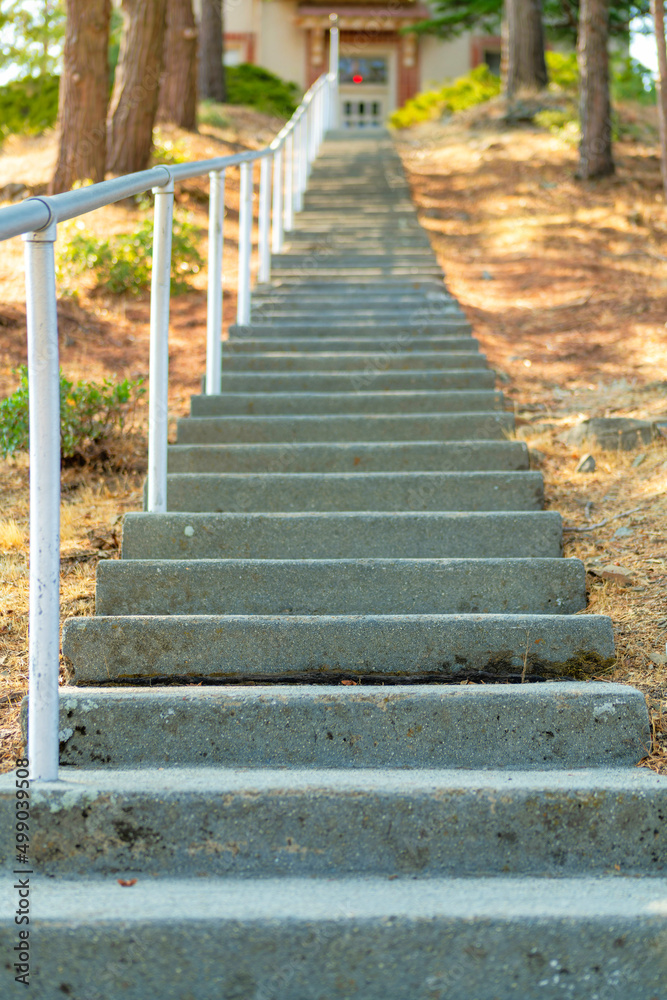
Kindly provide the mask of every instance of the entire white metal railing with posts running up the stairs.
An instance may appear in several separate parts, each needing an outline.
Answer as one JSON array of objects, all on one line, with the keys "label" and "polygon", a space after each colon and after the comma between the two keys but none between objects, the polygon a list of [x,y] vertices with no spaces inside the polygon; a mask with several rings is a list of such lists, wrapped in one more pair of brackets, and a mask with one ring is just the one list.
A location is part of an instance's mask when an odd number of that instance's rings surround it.
[{"label": "entire white metal railing with posts running up the stairs", "polygon": [[219,393],[222,352],[222,253],[225,171],[241,173],[237,322],[250,322],[254,164],[260,163],[260,282],[271,275],[325,132],[338,120],[338,27],[332,16],[329,72],[304,96],[273,142],[235,156],[157,166],[90,187],[28,198],[0,209],[0,241],[25,241],[28,380],[30,392],[30,612],[28,756],[32,779],[58,777],[60,648],[60,366],[54,244],[59,222],[132,195],[155,195],[150,309],[147,509],[167,509],[169,305],[174,184],[208,174],[209,267],[206,387]]}]

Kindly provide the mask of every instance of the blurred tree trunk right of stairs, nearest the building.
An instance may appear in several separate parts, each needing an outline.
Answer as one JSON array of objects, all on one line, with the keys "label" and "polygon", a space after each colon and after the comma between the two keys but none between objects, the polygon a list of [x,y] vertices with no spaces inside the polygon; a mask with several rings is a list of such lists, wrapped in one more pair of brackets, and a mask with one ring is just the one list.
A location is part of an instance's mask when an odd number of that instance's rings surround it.
[{"label": "blurred tree trunk right of stairs, nearest the building", "polygon": [[519,90],[538,91],[547,85],[541,0],[506,0],[507,79],[512,98]]}]

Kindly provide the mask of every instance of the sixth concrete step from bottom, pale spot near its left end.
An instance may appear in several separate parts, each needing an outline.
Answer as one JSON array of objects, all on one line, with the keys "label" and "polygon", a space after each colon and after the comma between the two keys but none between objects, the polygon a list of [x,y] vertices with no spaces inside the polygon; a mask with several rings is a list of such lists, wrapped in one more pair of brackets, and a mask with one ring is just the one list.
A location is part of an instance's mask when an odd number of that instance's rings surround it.
[{"label": "sixth concrete step from bottom, pale spot near its left end", "polygon": [[140,514],[123,559],[503,559],[562,555],[560,514]]}]

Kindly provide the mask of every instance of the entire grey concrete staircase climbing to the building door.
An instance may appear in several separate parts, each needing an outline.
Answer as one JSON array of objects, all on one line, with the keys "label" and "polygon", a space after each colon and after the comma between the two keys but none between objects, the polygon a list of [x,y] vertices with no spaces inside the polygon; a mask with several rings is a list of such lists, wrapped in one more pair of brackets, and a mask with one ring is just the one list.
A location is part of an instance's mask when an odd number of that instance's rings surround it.
[{"label": "entire grey concrete staircase climbing to the building door", "polygon": [[33,995],[664,1000],[644,700],[586,681],[610,623],[386,137],[325,144],[273,275],[65,628]]}]

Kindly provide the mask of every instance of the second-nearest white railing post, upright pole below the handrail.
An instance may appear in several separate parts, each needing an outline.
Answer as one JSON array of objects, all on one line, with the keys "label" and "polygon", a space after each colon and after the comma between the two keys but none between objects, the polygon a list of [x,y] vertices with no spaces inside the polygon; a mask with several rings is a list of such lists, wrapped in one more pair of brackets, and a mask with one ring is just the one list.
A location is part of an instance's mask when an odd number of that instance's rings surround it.
[{"label": "second-nearest white railing post, upright pole below the handrail", "polygon": [[148,497],[151,514],[167,509],[167,435],[169,432],[169,297],[174,182],[153,188],[153,271],[148,398]]}]

